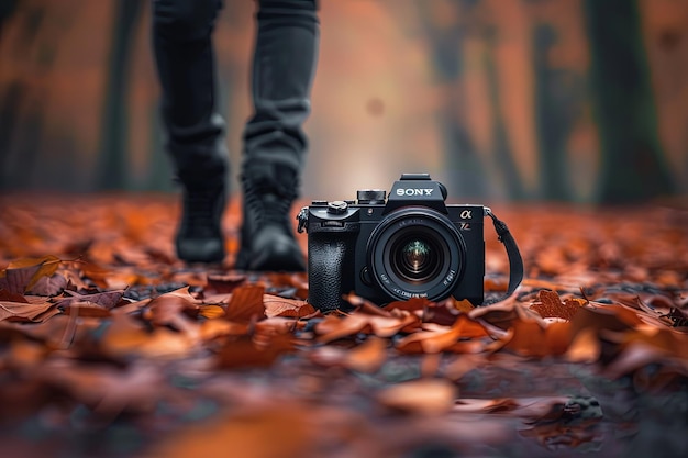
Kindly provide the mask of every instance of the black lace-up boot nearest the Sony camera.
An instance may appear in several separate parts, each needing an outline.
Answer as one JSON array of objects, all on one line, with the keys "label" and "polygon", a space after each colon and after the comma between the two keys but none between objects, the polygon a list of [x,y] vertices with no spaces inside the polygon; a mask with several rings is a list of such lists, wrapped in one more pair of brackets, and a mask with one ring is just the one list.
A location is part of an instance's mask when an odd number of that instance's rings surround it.
[{"label": "black lace-up boot nearest the Sony camera", "polygon": [[[248,271],[306,271],[306,260],[293,234],[291,203],[295,183],[243,177],[244,202],[241,248],[236,269]],[[293,185],[293,186],[292,186]]]}]

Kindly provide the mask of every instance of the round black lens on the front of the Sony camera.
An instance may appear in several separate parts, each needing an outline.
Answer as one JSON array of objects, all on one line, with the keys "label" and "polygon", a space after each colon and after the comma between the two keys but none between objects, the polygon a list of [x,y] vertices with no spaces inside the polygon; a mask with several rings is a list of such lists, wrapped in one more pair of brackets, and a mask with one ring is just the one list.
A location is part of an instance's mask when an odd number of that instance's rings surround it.
[{"label": "round black lens on the front of the Sony camera", "polygon": [[428,208],[407,206],[375,227],[367,246],[370,277],[391,299],[447,298],[464,270],[465,242]]}]

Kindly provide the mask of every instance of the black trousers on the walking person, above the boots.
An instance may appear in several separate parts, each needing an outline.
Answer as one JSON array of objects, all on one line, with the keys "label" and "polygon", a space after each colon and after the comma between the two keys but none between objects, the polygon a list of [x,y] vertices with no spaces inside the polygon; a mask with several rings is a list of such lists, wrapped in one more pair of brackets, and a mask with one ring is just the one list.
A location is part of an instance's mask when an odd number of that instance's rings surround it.
[{"label": "black trousers on the walking person, above the boots", "polygon": [[[244,171],[302,168],[318,54],[317,0],[257,0],[254,114],[244,131]],[[212,32],[222,0],[154,0],[153,45],[167,149],[182,182],[223,180],[224,121],[218,113]]]}]

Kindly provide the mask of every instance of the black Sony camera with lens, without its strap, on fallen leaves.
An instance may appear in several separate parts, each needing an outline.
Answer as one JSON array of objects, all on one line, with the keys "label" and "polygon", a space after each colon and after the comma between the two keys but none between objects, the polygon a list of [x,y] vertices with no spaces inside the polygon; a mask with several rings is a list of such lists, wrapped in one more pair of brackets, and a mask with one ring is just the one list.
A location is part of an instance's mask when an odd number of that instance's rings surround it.
[{"label": "black Sony camera with lens, without its strap, on fallen leaves", "polygon": [[482,205],[446,204],[428,174],[403,174],[389,193],[359,190],[356,201],[313,201],[299,213],[308,232],[309,302],[345,305],[352,291],[377,304],[411,298],[484,301]]}]

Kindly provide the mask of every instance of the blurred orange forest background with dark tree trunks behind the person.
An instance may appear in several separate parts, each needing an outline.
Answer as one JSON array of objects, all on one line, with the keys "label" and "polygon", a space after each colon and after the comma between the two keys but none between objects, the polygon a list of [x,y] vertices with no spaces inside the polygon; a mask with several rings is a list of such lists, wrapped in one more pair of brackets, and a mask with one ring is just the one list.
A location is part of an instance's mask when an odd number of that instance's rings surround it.
[{"label": "blurred orange forest background with dark tree trunks behind the person", "polygon": [[[225,0],[214,36],[234,180],[254,10]],[[304,197],[402,171],[458,200],[688,194],[688,0],[321,0],[320,19]],[[3,193],[174,189],[149,35],[149,1],[0,1]]]}]

